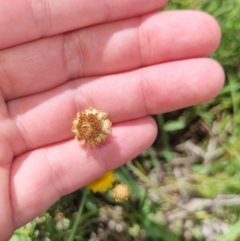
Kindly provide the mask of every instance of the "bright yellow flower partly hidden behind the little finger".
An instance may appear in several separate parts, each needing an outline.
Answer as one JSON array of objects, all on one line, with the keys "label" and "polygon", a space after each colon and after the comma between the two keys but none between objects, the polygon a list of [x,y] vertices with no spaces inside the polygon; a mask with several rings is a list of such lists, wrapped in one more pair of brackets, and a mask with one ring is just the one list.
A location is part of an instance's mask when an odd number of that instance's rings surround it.
[{"label": "bright yellow flower partly hidden behind the little finger", "polygon": [[110,189],[115,182],[115,172],[109,171],[102,175],[97,180],[86,185],[87,188],[91,189],[93,192],[106,192]]}]

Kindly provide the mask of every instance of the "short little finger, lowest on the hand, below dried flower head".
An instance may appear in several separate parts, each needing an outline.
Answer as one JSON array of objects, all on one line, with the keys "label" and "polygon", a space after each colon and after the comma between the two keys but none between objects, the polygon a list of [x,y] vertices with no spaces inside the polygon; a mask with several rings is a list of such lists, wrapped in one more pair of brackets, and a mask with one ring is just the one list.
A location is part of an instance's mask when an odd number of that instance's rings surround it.
[{"label": "short little finger, lowest on the hand, below dried flower head", "polygon": [[137,156],[154,141],[156,132],[154,121],[142,118],[114,125],[109,140],[95,149],[81,148],[73,140],[18,157],[11,172],[16,227],[36,217],[61,196]]}]

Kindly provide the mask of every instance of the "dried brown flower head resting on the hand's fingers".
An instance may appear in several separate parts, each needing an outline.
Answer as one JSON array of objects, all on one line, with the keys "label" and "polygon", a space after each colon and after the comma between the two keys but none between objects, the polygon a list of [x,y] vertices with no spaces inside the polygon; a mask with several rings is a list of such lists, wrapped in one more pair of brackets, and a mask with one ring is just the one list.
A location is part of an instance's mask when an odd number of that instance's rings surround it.
[{"label": "dried brown flower head resting on the hand's fingers", "polygon": [[102,110],[88,108],[77,113],[74,118],[71,131],[80,145],[95,147],[107,140],[111,132],[112,123],[107,119],[107,113]]}]

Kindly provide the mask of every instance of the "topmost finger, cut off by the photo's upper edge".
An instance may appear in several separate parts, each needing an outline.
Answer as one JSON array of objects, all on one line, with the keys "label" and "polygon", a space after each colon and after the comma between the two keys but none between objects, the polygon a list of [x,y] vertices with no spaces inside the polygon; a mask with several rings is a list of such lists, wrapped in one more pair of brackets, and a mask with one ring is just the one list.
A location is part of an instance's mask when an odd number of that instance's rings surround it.
[{"label": "topmost finger, cut off by the photo's upper edge", "polygon": [[166,0],[1,1],[0,49],[97,23],[142,15],[156,11],[166,2]]}]

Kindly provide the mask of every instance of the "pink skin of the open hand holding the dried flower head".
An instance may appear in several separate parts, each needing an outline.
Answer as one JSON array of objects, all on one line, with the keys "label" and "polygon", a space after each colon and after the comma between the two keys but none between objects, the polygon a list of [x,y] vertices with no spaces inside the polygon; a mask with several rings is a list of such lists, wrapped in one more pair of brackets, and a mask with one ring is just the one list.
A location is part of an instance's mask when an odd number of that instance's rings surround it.
[{"label": "pink skin of the open hand holding the dried flower head", "polygon": [[[1,240],[151,145],[149,115],[218,94],[224,73],[207,58],[220,42],[217,22],[202,12],[157,12],[165,4],[0,1]],[[113,122],[94,149],[70,131],[88,107]]]}]

